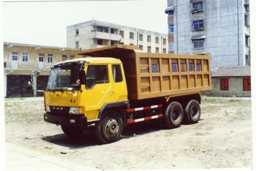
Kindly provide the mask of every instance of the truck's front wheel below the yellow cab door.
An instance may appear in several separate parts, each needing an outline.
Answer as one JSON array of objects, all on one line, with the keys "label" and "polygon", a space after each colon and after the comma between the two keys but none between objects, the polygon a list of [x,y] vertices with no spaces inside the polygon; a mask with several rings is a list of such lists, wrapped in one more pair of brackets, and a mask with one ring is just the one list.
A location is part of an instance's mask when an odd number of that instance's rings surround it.
[{"label": "truck's front wheel below the yellow cab door", "polygon": [[116,142],[123,132],[123,122],[115,110],[104,112],[102,119],[95,125],[96,136],[100,144]]}]

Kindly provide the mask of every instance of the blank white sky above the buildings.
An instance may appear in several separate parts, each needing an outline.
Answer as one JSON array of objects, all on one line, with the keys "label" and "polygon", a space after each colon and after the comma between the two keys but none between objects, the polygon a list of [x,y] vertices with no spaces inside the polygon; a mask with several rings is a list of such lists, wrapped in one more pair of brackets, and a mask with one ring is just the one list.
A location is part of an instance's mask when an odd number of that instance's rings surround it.
[{"label": "blank white sky above the buildings", "polygon": [[101,20],[168,33],[167,0],[4,2],[3,41],[66,47],[66,27]]}]

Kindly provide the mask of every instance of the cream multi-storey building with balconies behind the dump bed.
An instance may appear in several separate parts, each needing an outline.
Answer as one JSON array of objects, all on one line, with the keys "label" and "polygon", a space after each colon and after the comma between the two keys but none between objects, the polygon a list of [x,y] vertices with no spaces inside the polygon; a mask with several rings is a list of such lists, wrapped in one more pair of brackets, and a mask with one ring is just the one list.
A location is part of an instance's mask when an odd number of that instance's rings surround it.
[{"label": "cream multi-storey building with balconies behind the dump bed", "polygon": [[67,26],[67,47],[92,49],[116,44],[136,45],[143,52],[168,52],[166,34],[97,20]]}]

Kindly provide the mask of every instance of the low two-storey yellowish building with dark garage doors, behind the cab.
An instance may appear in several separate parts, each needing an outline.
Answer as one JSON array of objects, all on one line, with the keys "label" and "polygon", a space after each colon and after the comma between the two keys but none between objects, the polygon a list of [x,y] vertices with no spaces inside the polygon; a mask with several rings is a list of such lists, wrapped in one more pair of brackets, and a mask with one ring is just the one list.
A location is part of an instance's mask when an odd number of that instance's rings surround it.
[{"label": "low two-storey yellowish building with dark garage doors, behind the cab", "polygon": [[[73,59],[77,50],[4,42],[4,97],[28,97],[42,95],[29,89],[31,71],[52,66],[54,63]],[[36,79],[36,89],[45,89],[50,70],[42,70]]]}]

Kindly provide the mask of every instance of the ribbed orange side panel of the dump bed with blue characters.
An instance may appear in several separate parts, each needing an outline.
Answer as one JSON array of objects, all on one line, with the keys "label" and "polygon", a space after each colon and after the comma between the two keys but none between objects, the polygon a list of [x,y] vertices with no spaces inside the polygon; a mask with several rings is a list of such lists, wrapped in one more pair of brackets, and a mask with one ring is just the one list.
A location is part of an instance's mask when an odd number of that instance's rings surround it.
[{"label": "ribbed orange side panel of the dump bed with blue characters", "polygon": [[209,55],[137,52],[137,100],[210,90],[210,68]]}]

